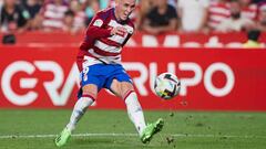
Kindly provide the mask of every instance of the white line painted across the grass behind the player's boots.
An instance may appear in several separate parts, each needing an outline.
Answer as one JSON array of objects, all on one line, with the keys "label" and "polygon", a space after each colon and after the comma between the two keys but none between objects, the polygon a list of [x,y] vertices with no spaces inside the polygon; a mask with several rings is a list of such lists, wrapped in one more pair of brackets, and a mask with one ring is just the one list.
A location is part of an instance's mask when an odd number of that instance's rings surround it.
[{"label": "white line painted across the grass behind the player's boots", "polygon": [[[74,134],[72,137],[136,137],[137,134]],[[172,134],[166,135],[172,137],[180,137],[180,138],[260,138],[266,139],[266,136],[234,136],[234,135],[193,135],[193,134]],[[0,136],[0,139],[14,139],[14,138],[54,138],[57,135],[3,135]]]}]

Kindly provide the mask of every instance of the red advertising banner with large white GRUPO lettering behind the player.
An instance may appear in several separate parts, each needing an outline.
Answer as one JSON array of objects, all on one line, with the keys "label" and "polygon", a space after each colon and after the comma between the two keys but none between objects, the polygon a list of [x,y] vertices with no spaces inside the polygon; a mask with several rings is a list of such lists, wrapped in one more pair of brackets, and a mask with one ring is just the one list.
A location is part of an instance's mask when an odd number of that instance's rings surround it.
[{"label": "red advertising banner with large white GRUPO lettering behind the player", "polygon": [[[79,86],[75,47],[2,46],[0,108],[70,108]],[[266,110],[266,51],[241,49],[136,49],[123,51],[144,109]],[[180,95],[153,93],[157,74],[172,72]],[[124,108],[101,91],[93,108]]]}]

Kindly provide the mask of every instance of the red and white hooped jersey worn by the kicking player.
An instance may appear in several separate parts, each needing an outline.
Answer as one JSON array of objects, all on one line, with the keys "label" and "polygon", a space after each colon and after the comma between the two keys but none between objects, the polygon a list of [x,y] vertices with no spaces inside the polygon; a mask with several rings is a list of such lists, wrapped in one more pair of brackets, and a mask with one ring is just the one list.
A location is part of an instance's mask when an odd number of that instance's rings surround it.
[{"label": "red and white hooped jersey worn by the kicking player", "polygon": [[[134,32],[134,24],[130,19],[119,21],[114,14],[115,8],[105,9],[95,14],[89,24],[78,55],[78,65],[88,57],[108,64],[121,63],[121,52],[124,44]],[[126,32],[111,35],[111,30],[123,26]],[[95,63],[98,63],[95,62]]]}]

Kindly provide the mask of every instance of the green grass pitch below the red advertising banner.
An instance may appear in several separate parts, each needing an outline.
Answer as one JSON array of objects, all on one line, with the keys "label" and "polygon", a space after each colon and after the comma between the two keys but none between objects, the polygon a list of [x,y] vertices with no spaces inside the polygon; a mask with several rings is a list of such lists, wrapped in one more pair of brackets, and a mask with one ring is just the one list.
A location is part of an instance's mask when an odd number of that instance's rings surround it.
[{"label": "green grass pitch below the red advertising banner", "polygon": [[[0,149],[55,149],[71,110],[0,110]],[[265,149],[266,113],[154,111],[165,126],[143,145],[125,110],[89,109],[63,149]]]}]

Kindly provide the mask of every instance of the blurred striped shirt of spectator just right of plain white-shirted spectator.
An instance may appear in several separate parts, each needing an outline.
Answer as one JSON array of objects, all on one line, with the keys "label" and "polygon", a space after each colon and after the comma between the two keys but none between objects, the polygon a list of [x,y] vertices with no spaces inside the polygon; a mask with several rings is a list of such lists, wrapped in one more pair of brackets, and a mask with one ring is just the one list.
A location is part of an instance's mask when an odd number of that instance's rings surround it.
[{"label": "blurred striped shirt of spectator just right of plain white-shirted spectator", "polygon": [[208,8],[208,26],[211,29],[216,29],[221,22],[231,17],[228,3],[222,2],[211,2]]}]

